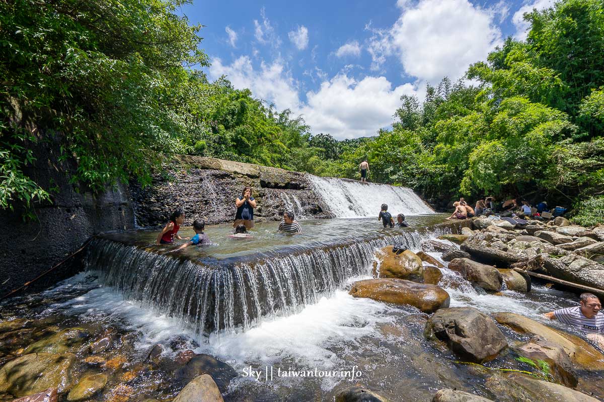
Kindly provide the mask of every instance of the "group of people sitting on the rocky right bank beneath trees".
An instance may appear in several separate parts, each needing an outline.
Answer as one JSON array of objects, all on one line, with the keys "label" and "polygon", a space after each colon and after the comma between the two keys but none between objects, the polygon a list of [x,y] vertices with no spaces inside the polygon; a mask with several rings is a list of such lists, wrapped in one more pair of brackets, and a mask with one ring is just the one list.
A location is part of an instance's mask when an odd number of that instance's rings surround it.
[{"label": "group of people sitting on the rocky right bank beneath trees", "polygon": [[481,197],[476,201],[474,208],[469,206],[462,197],[459,201],[453,203],[453,207],[455,210],[447,219],[467,219],[481,215],[489,216],[495,213],[503,217],[542,219],[542,216],[550,218],[551,216],[562,216],[567,212],[567,209],[560,206],[550,210],[545,201],[541,201],[533,207],[528,201],[515,198],[497,203],[495,197]]}]

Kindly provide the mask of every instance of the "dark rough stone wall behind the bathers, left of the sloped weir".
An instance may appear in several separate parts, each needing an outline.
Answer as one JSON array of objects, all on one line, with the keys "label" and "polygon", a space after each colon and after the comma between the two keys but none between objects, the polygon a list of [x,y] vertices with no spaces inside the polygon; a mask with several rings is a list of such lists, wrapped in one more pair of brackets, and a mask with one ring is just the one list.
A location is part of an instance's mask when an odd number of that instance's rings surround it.
[{"label": "dark rough stone wall behind the bathers, left of the sloped weir", "polygon": [[155,175],[152,186],[132,183],[130,192],[140,227],[163,225],[178,208],[187,225],[199,218],[219,224],[233,221],[235,200],[245,186],[252,187],[258,203],[255,221],[280,220],[286,209],[297,218],[332,218],[306,174],[221,159],[182,156]]}]

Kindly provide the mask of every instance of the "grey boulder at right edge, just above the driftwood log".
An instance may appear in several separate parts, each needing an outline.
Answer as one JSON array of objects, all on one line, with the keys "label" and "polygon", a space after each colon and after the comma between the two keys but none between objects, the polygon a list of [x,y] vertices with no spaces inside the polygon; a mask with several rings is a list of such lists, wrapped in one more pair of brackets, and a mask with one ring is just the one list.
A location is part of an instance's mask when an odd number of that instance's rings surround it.
[{"label": "grey boulder at right edge, just above the driftwood log", "polygon": [[544,257],[547,272],[556,278],[601,289],[604,293],[604,265],[571,254],[560,258]]}]

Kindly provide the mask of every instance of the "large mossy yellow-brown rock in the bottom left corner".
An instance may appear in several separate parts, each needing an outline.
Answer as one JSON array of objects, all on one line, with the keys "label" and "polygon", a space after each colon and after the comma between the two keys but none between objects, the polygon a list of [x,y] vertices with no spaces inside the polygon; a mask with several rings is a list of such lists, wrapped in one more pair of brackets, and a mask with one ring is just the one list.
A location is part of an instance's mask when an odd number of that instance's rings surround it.
[{"label": "large mossy yellow-brown rock in the bottom left corner", "polygon": [[0,369],[0,391],[25,397],[56,388],[59,394],[71,388],[71,353],[31,353],[17,357]]}]

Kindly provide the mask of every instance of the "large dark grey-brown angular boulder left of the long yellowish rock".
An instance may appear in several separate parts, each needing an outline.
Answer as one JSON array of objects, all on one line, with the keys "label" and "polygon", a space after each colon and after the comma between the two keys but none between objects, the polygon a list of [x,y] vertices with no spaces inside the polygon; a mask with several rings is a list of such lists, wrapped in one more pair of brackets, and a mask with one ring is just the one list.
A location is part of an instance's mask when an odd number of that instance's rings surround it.
[{"label": "large dark grey-brown angular boulder left of the long yellowish rock", "polygon": [[493,320],[474,307],[452,307],[434,313],[426,322],[426,338],[445,342],[462,359],[484,363],[507,347],[506,337]]}]

